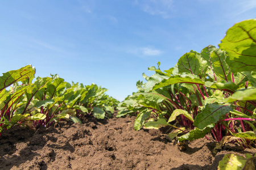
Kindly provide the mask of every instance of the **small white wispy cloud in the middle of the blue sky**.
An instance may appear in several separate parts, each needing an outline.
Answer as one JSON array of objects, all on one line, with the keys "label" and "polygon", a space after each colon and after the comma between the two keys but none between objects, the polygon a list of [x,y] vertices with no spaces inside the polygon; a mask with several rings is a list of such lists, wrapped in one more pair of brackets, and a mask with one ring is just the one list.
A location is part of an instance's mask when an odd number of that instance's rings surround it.
[{"label": "small white wispy cloud in the middle of the blue sky", "polygon": [[136,56],[159,56],[160,54],[162,54],[163,52],[159,49],[155,49],[153,47],[141,47],[141,48],[129,48],[127,50],[127,53],[131,53],[134,54]]}]

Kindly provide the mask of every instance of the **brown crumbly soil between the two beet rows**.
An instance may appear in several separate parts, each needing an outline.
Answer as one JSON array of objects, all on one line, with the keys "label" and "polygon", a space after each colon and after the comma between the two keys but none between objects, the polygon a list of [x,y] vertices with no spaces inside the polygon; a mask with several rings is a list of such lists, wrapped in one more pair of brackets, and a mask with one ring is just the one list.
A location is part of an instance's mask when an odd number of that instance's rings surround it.
[{"label": "brown crumbly soil between the two beet rows", "polygon": [[61,121],[36,131],[14,126],[0,137],[0,169],[217,169],[225,154],[255,154],[236,144],[215,154],[206,138],[181,151],[164,137],[166,129],[135,131],[134,120],[85,118],[82,125]]}]

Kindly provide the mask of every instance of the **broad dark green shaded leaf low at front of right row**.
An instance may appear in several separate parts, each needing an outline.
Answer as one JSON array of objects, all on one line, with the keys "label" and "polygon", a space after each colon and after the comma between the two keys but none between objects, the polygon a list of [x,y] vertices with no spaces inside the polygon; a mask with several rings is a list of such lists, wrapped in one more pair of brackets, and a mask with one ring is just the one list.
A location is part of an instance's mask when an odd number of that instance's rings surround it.
[{"label": "broad dark green shaded leaf low at front of right row", "polygon": [[194,126],[199,129],[204,129],[207,125],[216,123],[226,113],[233,111],[229,105],[208,104],[203,111],[197,114]]}]

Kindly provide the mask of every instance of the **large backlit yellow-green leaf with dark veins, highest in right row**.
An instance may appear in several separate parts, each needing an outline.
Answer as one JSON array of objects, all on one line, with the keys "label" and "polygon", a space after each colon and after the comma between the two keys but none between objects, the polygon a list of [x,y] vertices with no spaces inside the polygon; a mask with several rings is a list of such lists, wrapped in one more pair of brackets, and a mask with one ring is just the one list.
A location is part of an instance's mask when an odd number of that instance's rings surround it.
[{"label": "large backlit yellow-green leaf with dark veins, highest in right row", "polygon": [[256,19],[235,24],[218,45],[228,53],[232,71],[256,71]]}]

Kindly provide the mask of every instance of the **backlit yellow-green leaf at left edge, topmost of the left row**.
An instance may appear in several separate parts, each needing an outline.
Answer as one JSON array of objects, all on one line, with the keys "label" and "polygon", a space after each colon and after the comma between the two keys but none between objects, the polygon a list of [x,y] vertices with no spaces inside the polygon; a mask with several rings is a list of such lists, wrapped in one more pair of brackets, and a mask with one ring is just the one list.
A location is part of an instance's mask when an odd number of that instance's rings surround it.
[{"label": "backlit yellow-green leaf at left edge, topmost of the left row", "polygon": [[0,76],[0,91],[9,87],[15,82],[23,82],[27,79],[30,79],[28,82],[31,82],[35,75],[35,67],[27,65],[18,70],[8,71],[3,73],[3,76]]}]

